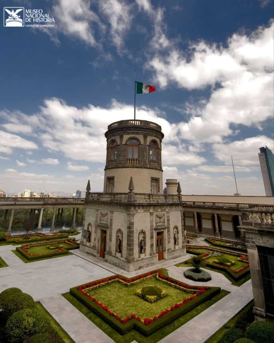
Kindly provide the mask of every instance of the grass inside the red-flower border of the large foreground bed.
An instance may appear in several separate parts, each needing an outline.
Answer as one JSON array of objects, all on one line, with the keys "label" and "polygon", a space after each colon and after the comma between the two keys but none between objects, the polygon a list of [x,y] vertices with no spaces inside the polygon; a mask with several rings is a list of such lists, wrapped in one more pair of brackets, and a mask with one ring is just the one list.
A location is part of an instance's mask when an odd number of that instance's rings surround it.
[{"label": "grass inside the red-flower border of the large foreground bed", "polygon": [[[146,286],[157,286],[161,289],[165,289],[167,296],[151,304],[135,295],[137,289]],[[108,286],[91,290],[88,293],[104,305],[108,306],[111,311],[115,312],[121,318],[126,318],[132,313],[135,313],[136,316],[142,319],[152,318],[192,295],[166,285],[157,280],[156,277],[130,287],[126,287],[120,282],[115,282]]]}]

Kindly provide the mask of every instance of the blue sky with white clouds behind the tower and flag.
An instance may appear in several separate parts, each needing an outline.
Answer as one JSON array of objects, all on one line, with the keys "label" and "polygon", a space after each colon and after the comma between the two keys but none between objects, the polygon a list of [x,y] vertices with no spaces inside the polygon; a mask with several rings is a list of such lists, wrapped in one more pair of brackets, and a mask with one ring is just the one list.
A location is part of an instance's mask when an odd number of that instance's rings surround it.
[{"label": "blue sky with white clouds behind the tower and flag", "polygon": [[[273,151],[273,1],[2,1],[54,27],[0,35],[0,188],[101,191],[104,132],[159,123],[164,180],[184,194],[265,195],[259,147]],[[2,12],[3,13],[3,12]],[[3,17],[2,17],[3,20]]]}]

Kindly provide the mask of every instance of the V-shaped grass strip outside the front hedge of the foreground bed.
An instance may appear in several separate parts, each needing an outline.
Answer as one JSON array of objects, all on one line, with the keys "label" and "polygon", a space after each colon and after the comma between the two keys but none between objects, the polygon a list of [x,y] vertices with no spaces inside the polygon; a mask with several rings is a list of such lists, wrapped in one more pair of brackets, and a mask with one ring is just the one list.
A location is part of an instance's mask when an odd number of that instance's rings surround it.
[{"label": "V-shaped grass strip outside the front hedge of the foreground bed", "polygon": [[[164,274],[164,273],[162,273]],[[165,273],[167,274],[167,272]],[[168,276],[168,275],[166,275]],[[129,287],[131,288],[131,287]],[[182,325],[184,325],[186,322],[188,322],[190,319],[196,317],[199,315],[202,311],[206,310],[208,307],[215,304],[217,301],[225,297],[229,292],[221,290],[221,292],[214,297],[212,297],[210,300],[205,301],[201,305],[195,307],[193,310],[187,312],[183,316],[177,318],[172,323],[164,326],[163,328],[159,329],[158,331],[152,333],[149,336],[143,336],[140,332],[136,330],[131,330],[130,332],[126,333],[125,335],[121,335],[116,330],[114,330],[112,327],[110,327],[104,320],[99,318],[94,312],[91,312],[85,305],[80,303],[74,296],[72,296],[70,293],[62,294],[63,297],[68,300],[74,307],[76,307],[84,316],[86,316],[92,323],[94,323],[98,328],[100,328],[105,334],[107,334],[114,342],[116,343],[131,343],[132,341],[136,341],[138,343],[156,343],[163,339],[165,336],[169,335]],[[115,297],[116,294],[113,295]],[[137,297],[137,296],[136,296]],[[138,298],[138,297],[137,297]],[[162,300],[162,299],[161,299]],[[157,304],[159,301],[156,303]],[[143,300],[145,301],[145,300]],[[151,305],[153,305],[151,304]],[[183,339],[183,338],[182,338]]]}]

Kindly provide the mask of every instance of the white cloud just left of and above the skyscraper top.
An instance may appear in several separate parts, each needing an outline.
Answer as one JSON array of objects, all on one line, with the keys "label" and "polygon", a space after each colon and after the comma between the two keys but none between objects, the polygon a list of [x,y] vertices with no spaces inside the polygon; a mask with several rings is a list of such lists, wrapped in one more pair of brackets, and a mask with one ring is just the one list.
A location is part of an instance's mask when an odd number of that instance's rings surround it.
[{"label": "white cloud just left of and above the skyscraper top", "polygon": [[242,141],[234,141],[228,144],[213,144],[214,155],[226,165],[231,165],[231,156],[233,163],[238,166],[260,164],[258,153],[259,148],[267,145],[273,152],[273,139],[264,135],[246,138]]}]

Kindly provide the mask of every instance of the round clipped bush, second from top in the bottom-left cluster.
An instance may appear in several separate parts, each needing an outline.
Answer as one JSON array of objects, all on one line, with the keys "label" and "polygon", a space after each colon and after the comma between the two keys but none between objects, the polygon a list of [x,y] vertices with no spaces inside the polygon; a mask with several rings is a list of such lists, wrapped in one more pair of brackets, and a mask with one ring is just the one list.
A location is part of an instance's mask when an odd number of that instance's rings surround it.
[{"label": "round clipped bush, second from top in the bottom-left cluster", "polygon": [[6,320],[14,313],[19,310],[26,308],[35,308],[35,302],[33,297],[26,293],[15,293],[8,299],[3,300],[2,309],[3,316]]}]

